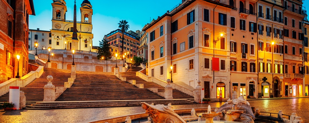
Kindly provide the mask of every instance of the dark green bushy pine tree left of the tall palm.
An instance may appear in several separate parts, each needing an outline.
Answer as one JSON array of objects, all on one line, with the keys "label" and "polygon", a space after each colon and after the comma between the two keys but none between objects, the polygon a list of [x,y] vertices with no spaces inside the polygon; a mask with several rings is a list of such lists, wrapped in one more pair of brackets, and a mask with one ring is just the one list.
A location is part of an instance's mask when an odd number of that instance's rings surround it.
[{"label": "dark green bushy pine tree left of the tall palm", "polygon": [[98,59],[101,59],[102,57],[104,57],[104,60],[109,60],[112,58],[112,52],[110,51],[110,44],[108,43],[108,41],[106,39],[103,39],[100,42],[100,47],[98,49]]}]

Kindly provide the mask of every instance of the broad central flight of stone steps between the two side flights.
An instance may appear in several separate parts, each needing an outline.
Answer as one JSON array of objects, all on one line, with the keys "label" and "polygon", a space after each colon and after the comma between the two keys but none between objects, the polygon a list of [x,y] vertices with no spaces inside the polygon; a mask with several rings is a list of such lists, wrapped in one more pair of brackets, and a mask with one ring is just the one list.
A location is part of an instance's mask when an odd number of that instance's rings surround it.
[{"label": "broad central flight of stone steps between the two side flights", "polygon": [[115,75],[88,72],[76,73],[76,79],[56,101],[164,99],[148,89],[140,89]]}]

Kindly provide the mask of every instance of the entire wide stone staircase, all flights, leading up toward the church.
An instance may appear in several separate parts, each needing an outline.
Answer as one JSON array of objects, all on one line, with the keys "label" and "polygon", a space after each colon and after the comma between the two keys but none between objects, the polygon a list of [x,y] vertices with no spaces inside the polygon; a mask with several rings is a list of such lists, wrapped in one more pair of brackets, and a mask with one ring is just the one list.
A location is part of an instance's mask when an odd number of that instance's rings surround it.
[{"label": "entire wide stone staircase, all flights, leading up toward the church", "polygon": [[[158,87],[159,92],[164,92],[164,87],[154,82],[146,82],[136,76],[140,67],[129,67],[128,72],[122,73],[127,81],[121,81],[112,72],[89,72],[76,71],[76,79],[54,102],[42,102],[44,99],[44,85],[46,77],[53,76],[52,83],[64,86],[64,82],[70,77],[70,70],[44,68],[40,78],[21,88],[25,92],[27,109],[62,109],[62,108],[85,108],[85,107],[117,107],[117,106],[140,106],[140,102],[155,104],[172,103],[193,104],[194,97],[173,89],[173,100],[164,99],[147,88]],[[144,89],[132,85],[128,80],[136,80],[136,84],[144,84]],[[1,101],[8,100],[9,93],[0,97]]]}]

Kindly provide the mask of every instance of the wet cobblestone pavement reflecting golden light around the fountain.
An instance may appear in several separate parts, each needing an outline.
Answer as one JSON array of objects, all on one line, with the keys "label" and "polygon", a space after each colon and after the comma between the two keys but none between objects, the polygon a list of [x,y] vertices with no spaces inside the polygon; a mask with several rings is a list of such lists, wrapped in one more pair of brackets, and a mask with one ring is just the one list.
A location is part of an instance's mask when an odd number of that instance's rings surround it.
[{"label": "wet cobblestone pavement reflecting golden light around the fountain", "polygon": [[[297,113],[305,122],[309,110],[308,98],[275,99],[275,100],[254,100],[249,101],[252,107],[260,109],[261,112],[278,113],[283,110],[285,114]],[[210,104],[173,105],[175,109],[220,107],[224,102],[213,102]],[[145,112],[142,107],[116,107],[116,108],[89,108],[89,109],[53,109],[53,110],[0,110],[0,123],[75,123],[99,120],[109,117],[129,115]],[[305,114],[306,113],[306,114]]]}]

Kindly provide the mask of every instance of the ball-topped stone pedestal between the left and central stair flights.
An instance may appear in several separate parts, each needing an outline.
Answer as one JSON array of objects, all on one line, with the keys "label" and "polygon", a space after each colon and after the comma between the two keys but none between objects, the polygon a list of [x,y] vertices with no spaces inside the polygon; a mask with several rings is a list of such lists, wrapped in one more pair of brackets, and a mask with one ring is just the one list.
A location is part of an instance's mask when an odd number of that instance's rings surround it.
[{"label": "ball-topped stone pedestal between the left and central stair flights", "polygon": [[44,86],[44,100],[43,101],[55,101],[55,90],[56,87],[52,84],[53,76],[47,76],[47,80],[49,81],[45,86]]}]

